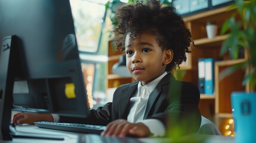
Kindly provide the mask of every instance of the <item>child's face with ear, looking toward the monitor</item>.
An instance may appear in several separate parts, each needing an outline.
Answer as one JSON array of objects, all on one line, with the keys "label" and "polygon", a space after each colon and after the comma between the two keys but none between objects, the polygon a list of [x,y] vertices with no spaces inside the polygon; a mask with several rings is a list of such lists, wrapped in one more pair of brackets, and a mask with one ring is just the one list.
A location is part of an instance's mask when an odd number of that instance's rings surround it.
[{"label": "child's face with ear, looking toward the monitor", "polygon": [[147,33],[139,34],[132,45],[129,39],[128,34],[125,39],[127,69],[135,80],[146,85],[165,72],[172,60],[172,50],[163,51],[155,37]]}]

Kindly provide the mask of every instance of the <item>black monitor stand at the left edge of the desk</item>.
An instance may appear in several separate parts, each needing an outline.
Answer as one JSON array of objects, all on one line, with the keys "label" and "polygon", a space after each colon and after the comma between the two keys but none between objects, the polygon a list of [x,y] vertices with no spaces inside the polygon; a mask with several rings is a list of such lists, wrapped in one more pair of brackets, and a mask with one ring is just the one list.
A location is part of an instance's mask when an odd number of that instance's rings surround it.
[{"label": "black monitor stand at the left edge of the desk", "polygon": [[63,140],[60,136],[40,134],[27,135],[14,130],[11,124],[11,109],[13,108],[13,86],[16,70],[15,55],[17,52],[17,36],[7,36],[2,39],[0,51],[0,142],[11,141],[13,138],[37,138]]}]

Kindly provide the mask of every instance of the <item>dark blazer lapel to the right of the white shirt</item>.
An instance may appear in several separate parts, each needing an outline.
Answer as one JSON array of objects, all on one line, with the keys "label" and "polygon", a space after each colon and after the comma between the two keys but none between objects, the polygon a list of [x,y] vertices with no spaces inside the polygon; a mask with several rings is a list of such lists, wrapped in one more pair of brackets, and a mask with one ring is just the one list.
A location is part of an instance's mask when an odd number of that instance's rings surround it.
[{"label": "dark blazer lapel to the right of the white shirt", "polygon": [[170,73],[166,74],[166,76],[158,83],[156,88],[149,95],[149,100],[147,101],[147,107],[144,114],[143,119],[149,116],[150,110],[152,110],[153,104],[156,102],[156,98],[161,95],[162,86],[166,85],[170,82],[172,75]]}]

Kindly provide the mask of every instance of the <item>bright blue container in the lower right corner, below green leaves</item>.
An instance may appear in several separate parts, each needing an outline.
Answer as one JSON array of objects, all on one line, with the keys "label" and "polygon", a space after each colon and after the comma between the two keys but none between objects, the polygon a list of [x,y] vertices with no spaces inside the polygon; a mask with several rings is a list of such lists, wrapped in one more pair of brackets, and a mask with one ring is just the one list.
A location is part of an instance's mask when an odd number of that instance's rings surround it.
[{"label": "bright blue container in the lower right corner, below green leaves", "polygon": [[231,104],[236,143],[255,142],[256,92],[232,92]]}]

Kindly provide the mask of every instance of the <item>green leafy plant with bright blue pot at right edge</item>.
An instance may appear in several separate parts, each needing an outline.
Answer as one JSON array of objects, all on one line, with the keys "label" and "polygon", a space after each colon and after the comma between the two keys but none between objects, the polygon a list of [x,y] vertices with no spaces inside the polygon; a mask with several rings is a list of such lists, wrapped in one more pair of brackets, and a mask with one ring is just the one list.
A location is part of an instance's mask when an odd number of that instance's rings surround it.
[{"label": "green leafy plant with bright blue pot at right edge", "polygon": [[[231,102],[233,118],[235,120],[236,142],[254,142],[256,136],[252,133],[256,130],[256,0],[237,0],[232,7],[237,13],[223,24],[221,34],[229,32],[229,38],[221,47],[221,55],[230,51],[232,58],[239,55],[239,48],[243,47],[246,60],[225,70],[224,74],[243,68],[246,73],[242,84],[249,84],[249,91],[232,92]],[[239,15],[240,18],[235,17]]]}]

